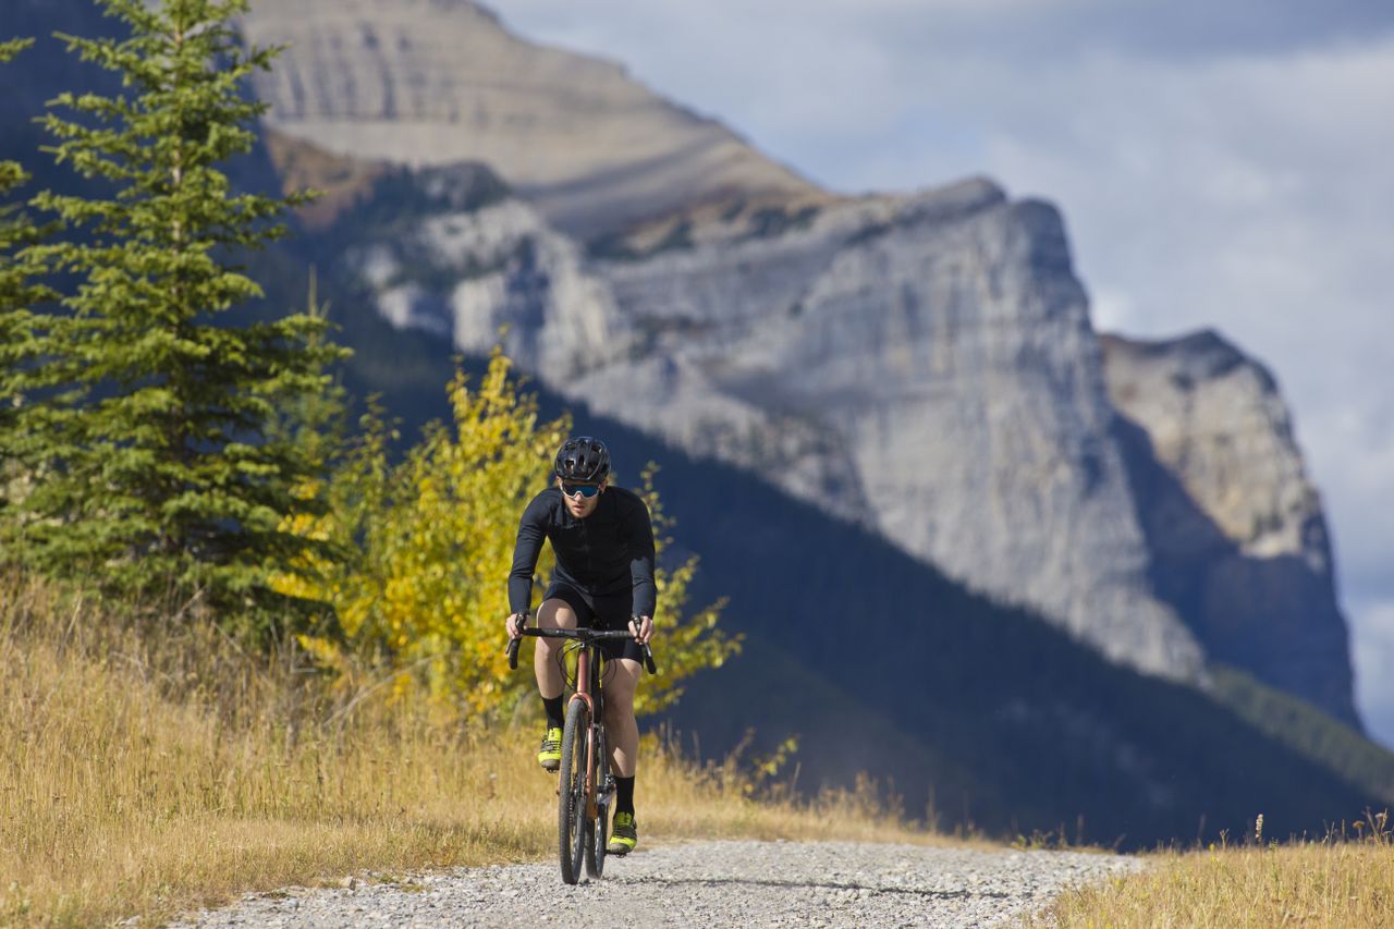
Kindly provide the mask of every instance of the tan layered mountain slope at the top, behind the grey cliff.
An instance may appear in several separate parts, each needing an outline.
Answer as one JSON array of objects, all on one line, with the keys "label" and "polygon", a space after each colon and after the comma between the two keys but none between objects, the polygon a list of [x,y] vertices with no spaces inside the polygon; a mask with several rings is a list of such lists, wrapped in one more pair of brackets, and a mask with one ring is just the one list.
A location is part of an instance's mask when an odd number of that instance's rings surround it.
[{"label": "tan layered mountain slope at the top, behind the grey cliff", "polygon": [[487,162],[569,232],[817,192],[618,64],[523,42],[467,0],[256,0],[243,31],[290,46],[256,78],[279,131],[357,158]]}]

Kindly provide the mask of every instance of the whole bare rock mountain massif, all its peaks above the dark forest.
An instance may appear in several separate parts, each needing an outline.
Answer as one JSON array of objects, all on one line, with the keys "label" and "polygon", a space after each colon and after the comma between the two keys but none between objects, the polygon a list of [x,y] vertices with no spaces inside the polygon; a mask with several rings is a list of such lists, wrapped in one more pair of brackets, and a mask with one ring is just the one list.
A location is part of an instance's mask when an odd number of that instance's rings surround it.
[{"label": "whole bare rock mountain massif, all its peaks above the dark forest", "polygon": [[[740,165],[760,170],[712,186],[671,162],[686,180],[631,209],[613,184],[647,173],[625,160],[637,149],[609,145],[626,133],[676,139],[675,126],[696,126],[680,107],[613,66],[521,42],[474,4],[323,6],[291,17],[263,4],[248,18],[250,38],[294,43],[259,88],[280,133],[429,162],[424,186],[474,170],[447,162],[481,159],[517,194],[358,237],[343,266],[383,317],[475,353],[506,328],[507,350],[570,402],[760,474],[1112,660],[1203,682],[1206,660],[1224,658],[1356,721],[1344,621],[1330,573],[1310,571],[1316,550],[1289,564],[1264,554],[1277,544],[1269,530],[1227,534],[1253,527],[1225,520],[1263,518],[1221,502],[1259,476],[1221,458],[1184,474],[1195,453],[1168,458],[1164,434],[1195,423],[1170,421],[1179,407],[1153,381],[1133,388],[1139,421],[1121,416],[1132,407],[1110,382],[1133,377],[1136,356],[1112,352],[1105,371],[1048,204],[986,180],[838,198],[769,181],[769,162],[742,145]],[[606,103],[623,95],[644,103]],[[591,148],[576,149],[577,133]],[[563,187],[587,191],[604,219],[569,219],[552,198]],[[1282,442],[1277,418],[1248,423],[1224,403],[1207,417],[1218,434],[1271,427]],[[1260,480],[1305,492],[1284,481]],[[1167,534],[1158,513],[1178,504],[1161,502],[1164,485],[1197,524],[1214,523],[1209,538],[1236,547],[1232,558]],[[1250,639],[1291,644],[1246,649]]]}]

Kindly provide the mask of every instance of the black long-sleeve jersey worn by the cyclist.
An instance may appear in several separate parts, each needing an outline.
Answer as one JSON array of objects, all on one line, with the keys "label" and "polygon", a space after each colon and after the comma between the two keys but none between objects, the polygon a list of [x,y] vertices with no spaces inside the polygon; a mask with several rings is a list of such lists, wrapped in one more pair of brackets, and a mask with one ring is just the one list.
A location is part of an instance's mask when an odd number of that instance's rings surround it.
[{"label": "black long-sleeve jersey worn by the cyclist", "polygon": [[634,612],[652,617],[658,605],[654,584],[654,529],[648,506],[631,491],[606,487],[591,515],[572,516],[562,491],[549,487],[527,505],[519,523],[509,572],[509,608],[528,610],[533,598],[533,571],[542,540],[556,554],[556,577],[592,594],[633,590]]}]

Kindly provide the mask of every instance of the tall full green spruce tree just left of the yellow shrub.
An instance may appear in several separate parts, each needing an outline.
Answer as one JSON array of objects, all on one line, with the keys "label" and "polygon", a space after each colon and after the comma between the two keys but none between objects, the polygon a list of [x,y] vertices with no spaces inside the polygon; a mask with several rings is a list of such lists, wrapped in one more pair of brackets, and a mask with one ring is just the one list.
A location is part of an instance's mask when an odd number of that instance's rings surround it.
[{"label": "tall full green spruce tree just left of the yellow shrub", "polygon": [[46,127],[59,163],[112,194],[33,201],[71,232],[32,251],[77,285],[35,325],[42,363],[21,372],[43,402],[21,407],[33,484],[10,547],[123,597],[198,596],[224,619],[280,626],[308,604],[269,575],[319,543],[290,530],[316,509],[315,463],[273,424],[328,388],[343,352],[322,318],[233,312],[262,296],[238,258],[304,201],[237,192],[219,170],[255,145],[265,105],[243,88],[276,49],[241,46],[245,0],[99,1],[128,35],[59,38],[124,89],[60,95]]}]

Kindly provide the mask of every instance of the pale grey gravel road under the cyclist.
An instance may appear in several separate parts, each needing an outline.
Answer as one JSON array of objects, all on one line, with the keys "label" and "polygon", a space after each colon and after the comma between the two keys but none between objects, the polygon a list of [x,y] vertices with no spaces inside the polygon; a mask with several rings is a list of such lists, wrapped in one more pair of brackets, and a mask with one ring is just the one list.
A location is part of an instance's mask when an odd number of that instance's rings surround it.
[{"label": "pale grey gravel road under the cyclist", "polygon": [[[567,887],[556,865],[368,877],[255,894],[177,926],[990,926],[1136,858],[852,843],[704,841],[611,858]],[[346,882],[350,883],[350,882]]]}]

